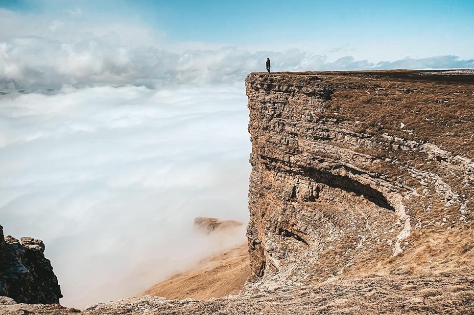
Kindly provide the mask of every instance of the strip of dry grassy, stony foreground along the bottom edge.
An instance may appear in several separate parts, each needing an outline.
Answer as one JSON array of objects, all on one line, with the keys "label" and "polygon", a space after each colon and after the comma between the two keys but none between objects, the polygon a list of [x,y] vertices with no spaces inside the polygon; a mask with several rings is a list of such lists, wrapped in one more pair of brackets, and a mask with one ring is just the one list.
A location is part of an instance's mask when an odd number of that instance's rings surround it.
[{"label": "strip of dry grassy, stony foreground along the bottom edge", "polygon": [[[4,315],[72,315],[59,305],[2,305]],[[207,301],[142,296],[97,304],[83,315],[294,315],[294,314],[473,314],[474,277],[372,275],[336,277],[311,287],[275,286],[253,294]]]}]

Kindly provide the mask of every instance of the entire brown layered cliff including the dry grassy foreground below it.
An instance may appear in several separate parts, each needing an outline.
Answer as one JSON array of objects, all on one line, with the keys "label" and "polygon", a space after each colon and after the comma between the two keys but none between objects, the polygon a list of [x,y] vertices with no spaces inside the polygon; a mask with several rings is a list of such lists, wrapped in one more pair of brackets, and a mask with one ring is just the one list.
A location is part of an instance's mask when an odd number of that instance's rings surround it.
[{"label": "entire brown layered cliff including the dry grassy foreground below it", "polygon": [[[244,289],[83,313],[472,314],[473,71],[251,73],[246,87]],[[48,314],[3,311],[19,308]]]}]

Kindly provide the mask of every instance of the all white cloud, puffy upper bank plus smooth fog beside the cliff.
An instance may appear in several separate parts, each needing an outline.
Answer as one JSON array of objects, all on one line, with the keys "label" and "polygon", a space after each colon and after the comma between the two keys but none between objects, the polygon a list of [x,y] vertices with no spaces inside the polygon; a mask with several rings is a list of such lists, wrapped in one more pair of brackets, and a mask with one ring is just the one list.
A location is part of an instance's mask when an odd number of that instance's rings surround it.
[{"label": "all white cloud, puffy upper bank plus smooth fog beside the cliff", "polygon": [[0,9],[0,223],[45,241],[68,306],[138,294],[245,241],[199,236],[192,220],[248,220],[243,81],[266,57],[277,71],[474,66],[170,43],[80,15]]}]

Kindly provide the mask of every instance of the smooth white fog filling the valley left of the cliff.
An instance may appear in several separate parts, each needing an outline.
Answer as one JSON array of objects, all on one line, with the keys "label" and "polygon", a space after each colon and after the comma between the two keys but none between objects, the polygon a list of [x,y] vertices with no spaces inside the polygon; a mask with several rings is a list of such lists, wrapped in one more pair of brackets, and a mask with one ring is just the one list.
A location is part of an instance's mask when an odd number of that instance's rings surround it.
[{"label": "smooth white fog filling the valley left of the cliff", "polygon": [[192,231],[195,216],[247,221],[243,84],[9,94],[0,119],[0,222],[45,241],[66,306],[139,294],[245,240]]}]

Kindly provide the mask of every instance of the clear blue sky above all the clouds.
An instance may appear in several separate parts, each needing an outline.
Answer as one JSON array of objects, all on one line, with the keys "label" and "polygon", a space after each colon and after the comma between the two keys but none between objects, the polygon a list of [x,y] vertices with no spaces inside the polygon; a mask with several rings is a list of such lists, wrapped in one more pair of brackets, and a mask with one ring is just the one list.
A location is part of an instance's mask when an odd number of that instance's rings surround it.
[{"label": "clear blue sky above all the clouds", "polygon": [[166,32],[171,42],[344,44],[404,37],[472,41],[474,36],[472,0],[1,0],[0,6],[46,16],[80,8],[82,19],[141,21]]}]

